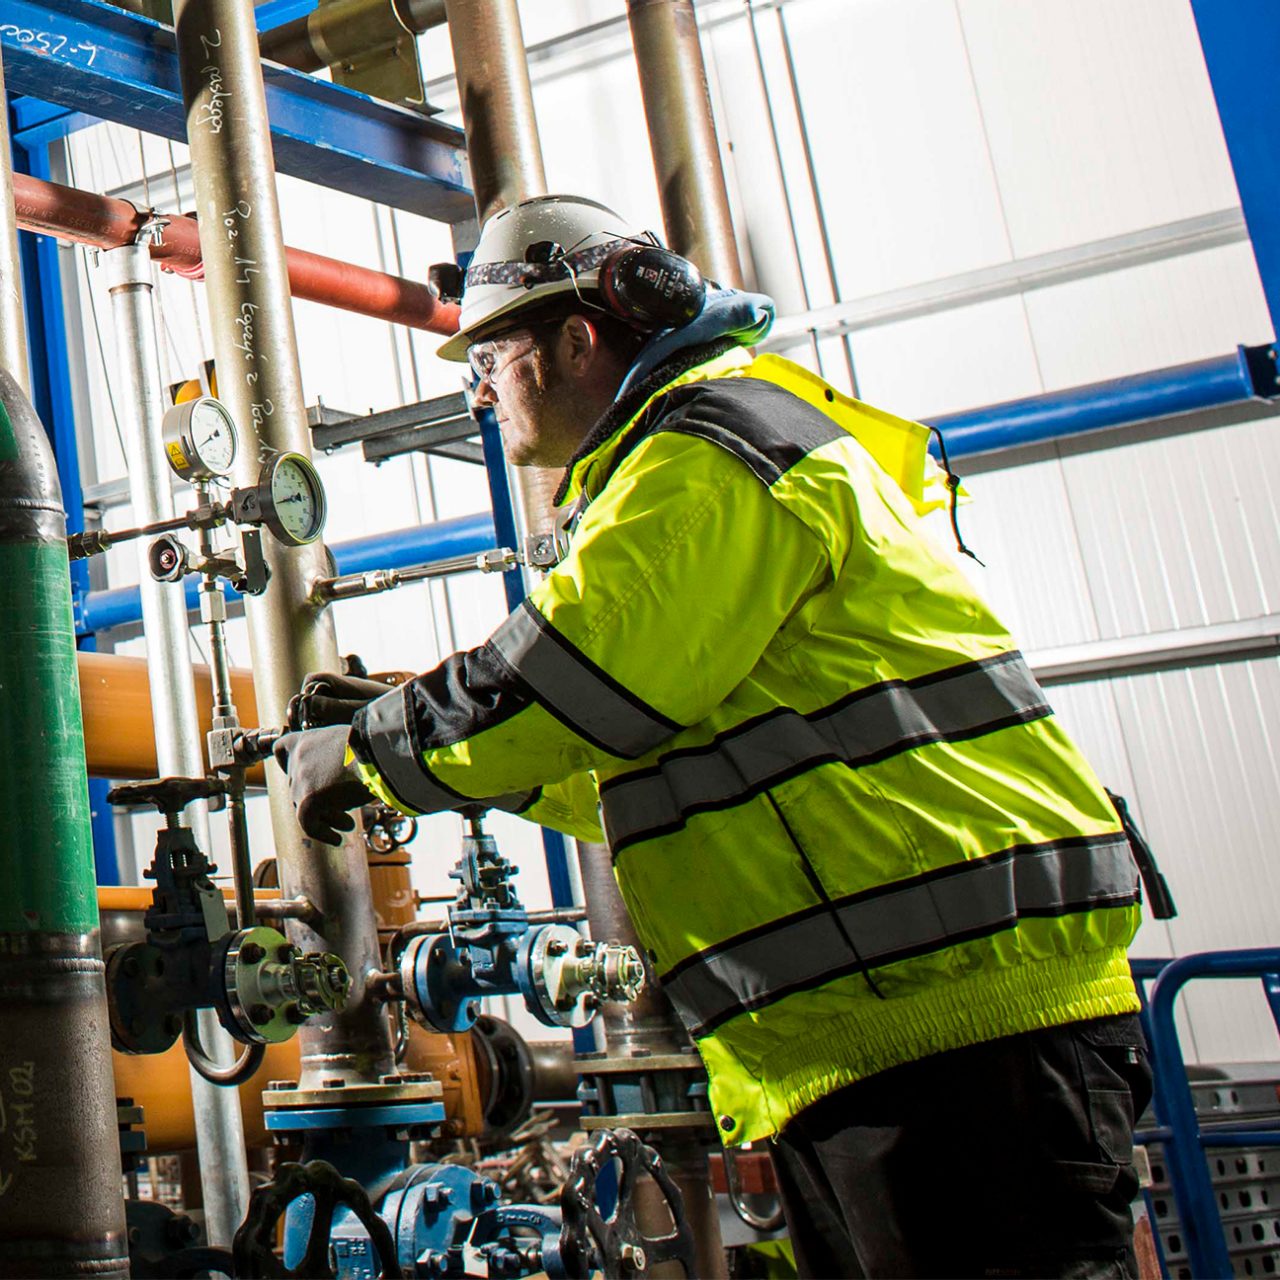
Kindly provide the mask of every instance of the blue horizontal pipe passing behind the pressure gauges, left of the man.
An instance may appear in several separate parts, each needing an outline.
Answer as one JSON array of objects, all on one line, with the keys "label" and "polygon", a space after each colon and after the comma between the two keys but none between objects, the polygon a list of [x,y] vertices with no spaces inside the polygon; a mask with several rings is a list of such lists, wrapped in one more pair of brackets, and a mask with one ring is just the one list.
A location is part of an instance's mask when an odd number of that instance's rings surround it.
[{"label": "blue horizontal pipe passing behind the pressure gauges, left of the man", "polygon": [[[493,516],[477,512],[434,525],[413,525],[387,534],[372,534],[329,549],[339,573],[361,573],[370,568],[407,568],[410,564],[424,564],[453,556],[479,556],[495,545]],[[197,607],[196,585],[193,577],[184,582],[187,608],[192,611]],[[227,599],[237,600],[239,593],[227,588]],[[90,591],[77,613],[77,632],[92,635],[109,627],[141,622],[142,596],[136,586]]]}]

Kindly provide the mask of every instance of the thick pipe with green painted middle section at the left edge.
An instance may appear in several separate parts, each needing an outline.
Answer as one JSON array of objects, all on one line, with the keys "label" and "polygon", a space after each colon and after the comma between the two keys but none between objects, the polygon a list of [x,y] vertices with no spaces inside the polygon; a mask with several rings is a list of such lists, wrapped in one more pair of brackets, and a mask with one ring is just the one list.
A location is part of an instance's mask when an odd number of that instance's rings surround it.
[{"label": "thick pipe with green painted middle section at the left edge", "polygon": [[128,1275],[65,534],[0,369],[0,1276]]}]

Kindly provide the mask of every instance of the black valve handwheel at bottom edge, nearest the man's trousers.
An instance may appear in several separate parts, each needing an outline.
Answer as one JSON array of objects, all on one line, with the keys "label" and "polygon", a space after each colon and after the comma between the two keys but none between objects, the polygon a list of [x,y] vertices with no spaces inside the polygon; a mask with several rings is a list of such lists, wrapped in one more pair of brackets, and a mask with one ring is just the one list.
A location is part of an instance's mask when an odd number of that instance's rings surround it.
[{"label": "black valve handwheel at bottom edge, nearest the man's trousers", "polygon": [[[613,1212],[604,1217],[596,1206],[595,1183],[614,1160],[622,1166],[618,1197]],[[666,1197],[675,1224],[667,1235],[645,1235],[636,1222],[632,1192],[643,1174],[653,1178]],[[686,1276],[694,1275],[694,1231],[680,1188],[658,1152],[630,1129],[603,1129],[590,1146],[575,1152],[561,1192],[561,1256],[572,1280],[588,1280],[596,1271],[608,1280],[646,1276],[659,1262],[678,1262]]]}]

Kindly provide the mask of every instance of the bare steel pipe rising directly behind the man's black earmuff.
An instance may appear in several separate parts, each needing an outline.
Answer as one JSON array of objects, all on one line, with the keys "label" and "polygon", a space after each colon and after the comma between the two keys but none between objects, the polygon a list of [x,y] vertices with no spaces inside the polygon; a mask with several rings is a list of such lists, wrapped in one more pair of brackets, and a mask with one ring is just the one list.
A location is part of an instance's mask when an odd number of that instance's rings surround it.
[{"label": "bare steel pipe rising directly behind the man's black earmuff", "polygon": [[704,275],[741,288],[692,0],[627,0],[627,20],[667,241]]}]

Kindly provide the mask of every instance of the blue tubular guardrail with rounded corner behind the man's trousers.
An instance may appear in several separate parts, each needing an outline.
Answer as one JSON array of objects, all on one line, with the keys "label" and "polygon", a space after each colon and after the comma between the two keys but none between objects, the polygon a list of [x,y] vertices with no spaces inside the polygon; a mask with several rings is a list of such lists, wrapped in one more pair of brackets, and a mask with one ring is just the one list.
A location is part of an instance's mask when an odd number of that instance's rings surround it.
[{"label": "blue tubular guardrail with rounded corner behind the man's trousers", "polygon": [[1183,987],[1197,978],[1261,979],[1280,1032],[1280,948],[1206,951],[1172,960],[1160,968],[1147,1005],[1156,1114],[1162,1126],[1140,1137],[1165,1146],[1190,1274],[1203,1280],[1226,1280],[1234,1272],[1204,1148],[1276,1147],[1280,1129],[1240,1124],[1201,1130],[1174,1016]]}]

